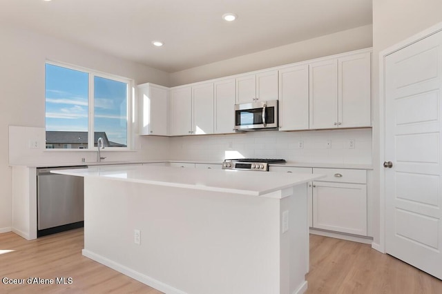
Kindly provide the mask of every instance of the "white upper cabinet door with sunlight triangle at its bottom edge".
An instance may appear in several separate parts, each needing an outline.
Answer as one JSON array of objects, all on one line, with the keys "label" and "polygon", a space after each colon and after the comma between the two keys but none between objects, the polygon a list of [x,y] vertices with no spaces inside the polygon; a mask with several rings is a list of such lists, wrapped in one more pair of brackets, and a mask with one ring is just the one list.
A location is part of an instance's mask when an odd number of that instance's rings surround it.
[{"label": "white upper cabinet door with sunlight triangle at its bottom edge", "polygon": [[192,87],[192,134],[213,134],[213,83]]}]

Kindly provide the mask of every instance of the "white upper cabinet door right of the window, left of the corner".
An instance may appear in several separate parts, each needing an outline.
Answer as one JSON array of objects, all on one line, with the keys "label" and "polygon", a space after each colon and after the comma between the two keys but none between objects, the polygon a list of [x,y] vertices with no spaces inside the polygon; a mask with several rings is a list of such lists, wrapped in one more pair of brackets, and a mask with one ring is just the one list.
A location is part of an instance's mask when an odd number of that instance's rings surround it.
[{"label": "white upper cabinet door right of the window, left of the corner", "polygon": [[158,86],[150,86],[150,122],[149,122],[149,134],[150,135],[167,135],[167,88]]}]

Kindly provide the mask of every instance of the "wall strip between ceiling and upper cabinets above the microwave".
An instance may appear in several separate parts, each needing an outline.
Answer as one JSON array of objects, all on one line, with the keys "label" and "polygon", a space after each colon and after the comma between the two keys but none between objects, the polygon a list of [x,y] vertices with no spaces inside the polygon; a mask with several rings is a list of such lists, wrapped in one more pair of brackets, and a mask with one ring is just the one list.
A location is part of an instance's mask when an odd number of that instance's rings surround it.
[{"label": "wall strip between ceiling and upper cabinets above the microwave", "polygon": [[226,77],[369,47],[372,47],[372,26],[361,26],[189,70],[173,72],[171,86]]}]

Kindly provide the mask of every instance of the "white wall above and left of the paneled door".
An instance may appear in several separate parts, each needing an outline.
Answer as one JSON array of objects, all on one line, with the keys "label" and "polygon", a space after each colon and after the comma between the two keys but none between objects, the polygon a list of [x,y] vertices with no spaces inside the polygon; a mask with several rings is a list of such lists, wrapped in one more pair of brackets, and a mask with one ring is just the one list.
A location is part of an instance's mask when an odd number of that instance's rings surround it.
[{"label": "white wall above and left of the paneled door", "polygon": [[[373,109],[373,163],[374,203],[379,204],[379,52],[425,28],[442,21],[441,0],[373,0],[373,59],[372,59],[372,109]],[[379,242],[379,207],[373,209],[374,243]]]}]

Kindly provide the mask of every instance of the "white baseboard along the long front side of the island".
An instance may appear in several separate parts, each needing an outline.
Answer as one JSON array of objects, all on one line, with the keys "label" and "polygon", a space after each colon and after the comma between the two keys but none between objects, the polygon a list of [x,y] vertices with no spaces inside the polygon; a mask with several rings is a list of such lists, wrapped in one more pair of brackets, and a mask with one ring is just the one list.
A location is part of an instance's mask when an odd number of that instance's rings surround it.
[{"label": "white baseboard along the long front side of the island", "polygon": [[98,255],[96,253],[93,253],[93,252],[88,251],[86,249],[83,249],[81,251],[81,253],[84,256],[95,260],[95,262],[99,262],[100,264],[104,264],[105,266],[108,266],[109,268],[112,268],[115,271],[118,271],[119,273],[127,275],[128,277],[131,277],[134,280],[137,280],[138,282],[142,282],[143,284],[151,286],[152,288],[155,288],[158,291],[161,291],[163,293],[166,293],[166,294],[186,294],[186,292],[180,291],[177,288],[173,288],[172,286],[169,286],[168,284],[164,284],[163,282],[155,280],[152,277],[149,277],[147,275],[144,275],[142,273],[134,271],[133,269],[128,268],[127,266],[124,266],[124,265],[119,264],[117,262],[113,262],[111,259],[108,259],[108,258]]}]

